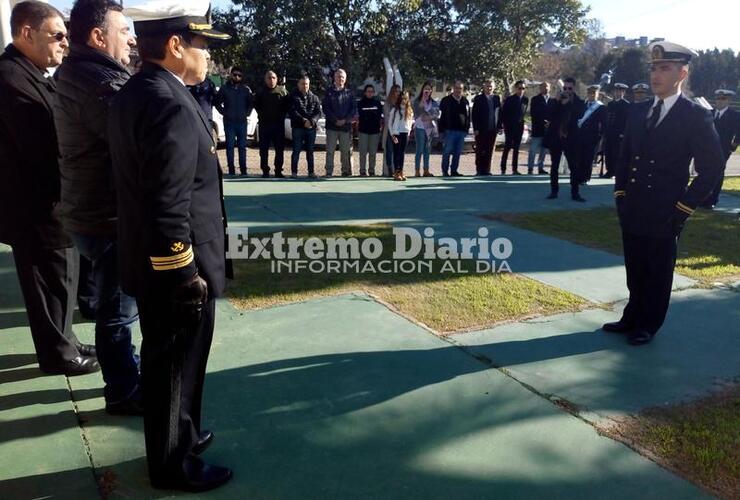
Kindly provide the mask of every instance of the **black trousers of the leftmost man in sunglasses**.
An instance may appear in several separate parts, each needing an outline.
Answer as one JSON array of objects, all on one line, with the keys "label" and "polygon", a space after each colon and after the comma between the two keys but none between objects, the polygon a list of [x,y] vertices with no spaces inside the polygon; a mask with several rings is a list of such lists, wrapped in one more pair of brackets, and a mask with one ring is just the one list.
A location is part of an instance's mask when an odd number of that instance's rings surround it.
[{"label": "black trousers of the leftmost man in sunglasses", "polygon": [[52,369],[79,356],[79,340],[72,333],[77,251],[74,247],[47,250],[22,243],[13,246],[13,259],[39,366]]}]

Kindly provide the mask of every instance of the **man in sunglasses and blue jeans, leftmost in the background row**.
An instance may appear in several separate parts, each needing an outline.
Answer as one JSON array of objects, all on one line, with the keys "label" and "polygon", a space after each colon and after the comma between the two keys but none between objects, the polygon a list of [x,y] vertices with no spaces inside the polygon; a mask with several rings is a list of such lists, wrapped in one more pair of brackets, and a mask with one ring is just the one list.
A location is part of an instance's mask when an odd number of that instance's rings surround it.
[{"label": "man in sunglasses and blue jeans, leftmost in the background row", "polygon": [[238,66],[216,94],[213,105],[224,117],[226,136],[226,165],[229,175],[235,175],[234,146],[239,149],[239,173],[247,175],[247,126],[254,108],[252,89],[244,82],[244,72]]}]

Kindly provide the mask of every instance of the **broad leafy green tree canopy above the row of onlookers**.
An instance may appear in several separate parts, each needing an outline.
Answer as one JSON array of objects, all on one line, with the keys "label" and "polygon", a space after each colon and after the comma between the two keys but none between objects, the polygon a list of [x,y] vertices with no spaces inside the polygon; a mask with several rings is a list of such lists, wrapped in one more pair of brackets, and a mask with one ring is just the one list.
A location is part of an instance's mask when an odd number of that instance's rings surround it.
[{"label": "broad leafy green tree canopy above the row of onlookers", "polygon": [[272,67],[327,76],[343,67],[357,83],[380,76],[390,56],[411,84],[429,76],[508,84],[531,70],[546,34],[567,45],[586,33],[580,0],[233,1],[215,18],[235,41],[214,59],[246,60],[248,73],[260,75]]}]

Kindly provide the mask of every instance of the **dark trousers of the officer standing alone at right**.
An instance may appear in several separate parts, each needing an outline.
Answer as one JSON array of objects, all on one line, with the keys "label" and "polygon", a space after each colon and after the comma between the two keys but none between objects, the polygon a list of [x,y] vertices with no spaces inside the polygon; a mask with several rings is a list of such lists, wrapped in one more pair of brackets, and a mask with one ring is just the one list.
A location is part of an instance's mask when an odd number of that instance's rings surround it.
[{"label": "dark trousers of the officer standing alone at right", "polygon": [[655,334],[663,325],[673,286],[677,238],[622,233],[630,298],[622,321]]}]

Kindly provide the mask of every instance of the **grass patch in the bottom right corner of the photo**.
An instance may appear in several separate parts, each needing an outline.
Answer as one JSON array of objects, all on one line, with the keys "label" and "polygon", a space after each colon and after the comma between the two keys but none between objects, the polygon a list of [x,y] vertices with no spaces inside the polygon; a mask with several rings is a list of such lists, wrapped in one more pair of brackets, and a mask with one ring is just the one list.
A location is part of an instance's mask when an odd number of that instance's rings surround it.
[{"label": "grass patch in the bottom right corner of the photo", "polygon": [[622,419],[606,434],[722,498],[740,498],[740,386]]}]

